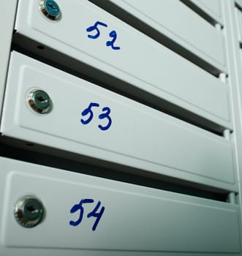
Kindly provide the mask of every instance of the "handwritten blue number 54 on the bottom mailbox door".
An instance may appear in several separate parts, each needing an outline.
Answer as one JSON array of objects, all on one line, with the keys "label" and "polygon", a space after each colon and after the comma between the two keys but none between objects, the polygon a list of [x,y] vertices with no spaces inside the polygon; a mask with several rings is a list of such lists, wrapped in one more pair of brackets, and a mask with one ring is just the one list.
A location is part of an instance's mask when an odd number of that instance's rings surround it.
[{"label": "handwritten blue number 54 on the bottom mailbox door", "polygon": [[[94,200],[93,200],[93,199],[82,199],[82,200],[80,200],[80,203],[78,203],[78,204],[72,206],[72,208],[70,209],[70,213],[71,213],[71,214],[74,214],[76,211],[79,210],[79,211],[80,211],[80,215],[79,215],[79,218],[77,219],[77,221],[71,220],[71,221],[69,222],[69,225],[74,226],[74,227],[76,227],[77,225],[80,225],[80,223],[81,223],[82,220],[83,220],[83,214],[84,214],[83,205],[84,205],[85,203],[94,203]],[[97,206],[95,206],[94,210],[91,211],[91,212],[89,212],[89,213],[87,214],[87,216],[86,216],[87,218],[91,218],[91,217],[96,218],[96,220],[95,220],[95,222],[94,222],[94,225],[93,225],[93,227],[92,227],[92,230],[93,230],[93,231],[95,231],[95,230],[97,229],[97,225],[99,224],[99,221],[100,221],[100,219],[102,218],[102,214],[103,214],[104,211],[105,211],[105,206],[102,206],[102,208],[100,209],[100,211],[97,212],[100,206],[101,206],[101,202],[98,201]]]}]

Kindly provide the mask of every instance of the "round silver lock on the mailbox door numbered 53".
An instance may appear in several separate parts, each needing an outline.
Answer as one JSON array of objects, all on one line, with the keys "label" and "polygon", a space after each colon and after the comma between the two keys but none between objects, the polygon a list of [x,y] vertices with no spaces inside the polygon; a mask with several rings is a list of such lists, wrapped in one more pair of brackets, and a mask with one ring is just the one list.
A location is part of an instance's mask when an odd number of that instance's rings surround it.
[{"label": "round silver lock on the mailbox door numbered 53", "polygon": [[39,89],[30,91],[27,100],[31,108],[38,113],[48,113],[52,108],[52,102],[49,95],[45,91]]}]

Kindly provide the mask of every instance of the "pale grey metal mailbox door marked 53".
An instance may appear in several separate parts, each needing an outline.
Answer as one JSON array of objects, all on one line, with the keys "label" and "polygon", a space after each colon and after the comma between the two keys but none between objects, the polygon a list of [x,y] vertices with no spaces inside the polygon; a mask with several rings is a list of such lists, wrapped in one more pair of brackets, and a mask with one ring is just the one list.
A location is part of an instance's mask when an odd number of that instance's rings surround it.
[{"label": "pale grey metal mailbox door marked 53", "polygon": [[[45,90],[53,110],[37,114],[28,91]],[[12,53],[3,135],[223,189],[237,189],[233,143],[86,80]],[[93,119],[83,114],[91,102]],[[110,108],[110,118],[102,118]],[[102,130],[99,126],[107,127]]]}]

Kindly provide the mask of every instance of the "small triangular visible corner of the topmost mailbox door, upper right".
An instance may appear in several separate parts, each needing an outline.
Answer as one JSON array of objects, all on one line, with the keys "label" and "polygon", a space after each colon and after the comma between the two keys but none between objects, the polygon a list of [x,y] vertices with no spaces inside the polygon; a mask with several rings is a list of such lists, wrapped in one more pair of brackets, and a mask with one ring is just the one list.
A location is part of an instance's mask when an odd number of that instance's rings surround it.
[{"label": "small triangular visible corner of the topmost mailbox door, upper right", "polygon": [[[223,24],[222,0],[189,0],[200,7],[204,12]],[[227,1],[227,0],[225,0]]]}]

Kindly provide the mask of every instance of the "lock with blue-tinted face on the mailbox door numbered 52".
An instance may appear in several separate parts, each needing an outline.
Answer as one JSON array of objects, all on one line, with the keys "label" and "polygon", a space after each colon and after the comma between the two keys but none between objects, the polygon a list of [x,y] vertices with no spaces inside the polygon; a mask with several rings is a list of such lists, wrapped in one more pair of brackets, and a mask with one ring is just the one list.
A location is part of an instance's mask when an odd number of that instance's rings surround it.
[{"label": "lock with blue-tinted face on the mailbox door numbered 52", "polygon": [[61,11],[56,1],[40,0],[39,9],[50,20],[58,20],[61,18]]}]

